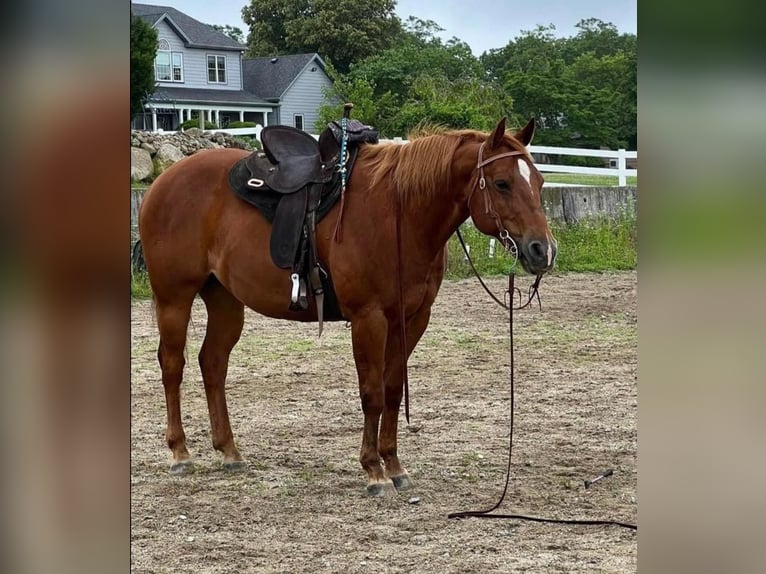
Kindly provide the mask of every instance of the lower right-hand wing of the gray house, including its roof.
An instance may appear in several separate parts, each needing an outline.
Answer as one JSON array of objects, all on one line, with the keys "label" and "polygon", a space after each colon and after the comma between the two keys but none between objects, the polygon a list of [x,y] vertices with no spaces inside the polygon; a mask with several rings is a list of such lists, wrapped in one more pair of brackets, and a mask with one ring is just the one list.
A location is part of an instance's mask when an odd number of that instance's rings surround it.
[{"label": "lower right-hand wing of the gray house, including its roof", "polygon": [[247,91],[276,104],[269,114],[270,124],[318,131],[319,107],[326,99],[325,89],[332,86],[318,54],[246,58],[242,75]]}]

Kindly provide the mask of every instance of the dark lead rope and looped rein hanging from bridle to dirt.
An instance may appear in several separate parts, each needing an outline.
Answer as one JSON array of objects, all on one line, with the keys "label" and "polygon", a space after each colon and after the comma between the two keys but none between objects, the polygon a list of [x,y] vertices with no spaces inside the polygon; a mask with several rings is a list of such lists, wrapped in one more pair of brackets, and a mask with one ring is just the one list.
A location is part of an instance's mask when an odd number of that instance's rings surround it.
[{"label": "dark lead rope and looped rein hanging from bridle to dirt", "polygon": [[[461,238],[461,244],[463,245],[463,249],[465,250],[465,244],[462,241]],[[467,255],[466,250],[466,255]],[[469,257],[470,261],[470,257]],[[473,267],[473,263],[471,263],[471,267],[476,270],[475,267]],[[479,277],[479,280],[481,281],[481,276],[476,275]],[[537,294],[537,285],[540,283],[540,275],[537,276],[537,280],[535,281],[534,285],[534,293],[530,294],[529,300],[524,304],[523,307],[526,307],[529,305],[529,303],[532,301],[532,298],[534,295]],[[513,294],[517,292],[518,290],[514,286],[514,278],[515,274],[513,271],[508,275],[508,292],[507,294],[510,297],[513,297]],[[484,285],[484,282],[481,281],[482,285]],[[485,289],[486,285],[485,285]],[[492,295],[492,293],[487,289],[487,292]],[[495,299],[498,303],[500,301],[492,295],[492,298]],[[539,301],[539,295],[538,295],[538,301]],[[513,311],[514,307],[513,305],[501,305],[508,309],[508,333],[510,337],[510,383],[511,383],[511,416],[510,416],[510,432],[508,434],[508,466],[505,471],[505,486],[503,487],[503,493],[500,495],[500,500],[497,501],[497,503],[492,507],[488,508],[486,510],[464,510],[461,512],[452,512],[447,515],[447,518],[454,518],[454,519],[462,519],[462,518],[502,518],[502,519],[517,519],[517,520],[529,520],[532,522],[548,522],[553,524],[584,524],[584,525],[606,525],[606,526],[620,526],[622,528],[629,528],[630,530],[638,530],[638,526],[635,524],[630,524],[627,522],[619,522],[616,520],[578,520],[578,519],[564,519],[564,518],[541,518],[538,516],[527,516],[524,514],[491,514],[491,512],[497,508],[500,507],[500,505],[505,500],[505,495],[508,492],[508,484],[511,480],[511,454],[513,452],[513,411],[514,411],[514,385],[513,385],[513,373],[514,373],[514,357],[513,357]],[[522,306],[517,307],[517,309],[523,308]]]}]

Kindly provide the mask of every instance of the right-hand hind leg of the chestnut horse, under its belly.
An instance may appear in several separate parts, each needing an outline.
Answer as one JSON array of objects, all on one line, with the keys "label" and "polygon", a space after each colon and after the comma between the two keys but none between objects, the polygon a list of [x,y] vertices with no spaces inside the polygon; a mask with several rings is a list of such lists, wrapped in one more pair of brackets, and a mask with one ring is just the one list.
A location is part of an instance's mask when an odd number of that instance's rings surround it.
[{"label": "right-hand hind leg of the chestnut horse, under its belly", "polygon": [[245,462],[234,445],[229,411],[226,406],[226,372],[229,354],[239,341],[245,321],[245,307],[214,276],[200,291],[207,307],[207,332],[199,353],[202,380],[205,383],[213,448],[223,453],[227,470],[244,470]]}]

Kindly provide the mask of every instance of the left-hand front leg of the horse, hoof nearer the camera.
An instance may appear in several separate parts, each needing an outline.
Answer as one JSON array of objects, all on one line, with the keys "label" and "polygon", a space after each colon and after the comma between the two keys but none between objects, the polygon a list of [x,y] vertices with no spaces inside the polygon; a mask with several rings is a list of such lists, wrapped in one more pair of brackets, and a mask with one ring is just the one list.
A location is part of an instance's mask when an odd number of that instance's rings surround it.
[{"label": "left-hand front leg of the horse, hoof nearer the camera", "polygon": [[378,429],[383,412],[383,368],[386,351],[388,321],[381,310],[354,317],[351,322],[351,341],[354,361],[359,376],[359,397],[364,412],[364,431],[359,461],[367,472],[367,494],[385,496],[396,492],[383,472],[378,454]]}]

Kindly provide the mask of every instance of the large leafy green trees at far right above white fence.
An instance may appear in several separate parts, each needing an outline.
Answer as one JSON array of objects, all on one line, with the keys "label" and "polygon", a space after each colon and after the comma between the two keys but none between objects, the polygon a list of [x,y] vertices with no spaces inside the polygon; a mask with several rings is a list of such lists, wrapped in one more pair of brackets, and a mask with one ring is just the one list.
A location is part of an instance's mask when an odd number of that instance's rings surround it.
[{"label": "large leafy green trees at far right above white fence", "polygon": [[481,61],[513,96],[517,121],[537,119],[535,143],[635,149],[636,36],[595,18],[577,28],[556,38],[538,26]]}]

